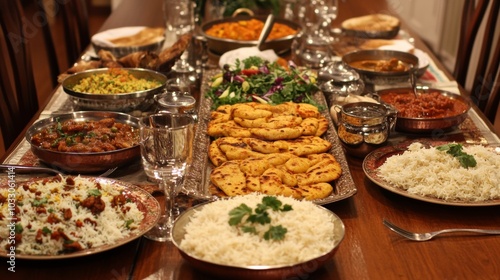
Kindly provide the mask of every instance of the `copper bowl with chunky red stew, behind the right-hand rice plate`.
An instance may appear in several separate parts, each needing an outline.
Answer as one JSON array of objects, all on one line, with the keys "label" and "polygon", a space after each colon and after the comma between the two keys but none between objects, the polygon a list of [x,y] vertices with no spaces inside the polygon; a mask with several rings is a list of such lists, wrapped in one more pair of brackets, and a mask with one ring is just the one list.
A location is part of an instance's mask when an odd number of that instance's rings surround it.
[{"label": "copper bowl with chunky red stew, behind the right-hand rice plate", "polygon": [[444,90],[418,87],[380,90],[375,93],[380,102],[394,107],[397,113],[396,130],[430,133],[451,130],[461,124],[470,109],[465,97]]}]

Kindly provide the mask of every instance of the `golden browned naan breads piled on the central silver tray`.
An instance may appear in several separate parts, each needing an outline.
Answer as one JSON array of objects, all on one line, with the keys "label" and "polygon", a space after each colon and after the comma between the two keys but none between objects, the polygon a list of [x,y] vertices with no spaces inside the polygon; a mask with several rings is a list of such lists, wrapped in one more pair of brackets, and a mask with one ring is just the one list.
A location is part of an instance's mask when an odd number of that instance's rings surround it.
[{"label": "golden browned naan breads piled on the central silver tray", "polygon": [[321,138],[328,120],[310,104],[241,103],[211,114],[211,191],[222,196],[260,192],[315,200],[329,196],[342,174]]}]

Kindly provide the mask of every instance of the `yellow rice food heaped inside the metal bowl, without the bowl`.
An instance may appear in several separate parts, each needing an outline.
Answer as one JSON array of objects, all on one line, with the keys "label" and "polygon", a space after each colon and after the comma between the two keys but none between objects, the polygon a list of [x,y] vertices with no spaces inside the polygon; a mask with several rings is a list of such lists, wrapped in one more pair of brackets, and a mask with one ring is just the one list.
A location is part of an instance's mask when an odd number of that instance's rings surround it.
[{"label": "yellow rice food heaped inside the metal bowl, without the bowl", "polygon": [[138,79],[127,70],[111,68],[106,73],[81,79],[72,90],[95,94],[117,94],[144,91],[159,86],[161,84],[158,81]]}]

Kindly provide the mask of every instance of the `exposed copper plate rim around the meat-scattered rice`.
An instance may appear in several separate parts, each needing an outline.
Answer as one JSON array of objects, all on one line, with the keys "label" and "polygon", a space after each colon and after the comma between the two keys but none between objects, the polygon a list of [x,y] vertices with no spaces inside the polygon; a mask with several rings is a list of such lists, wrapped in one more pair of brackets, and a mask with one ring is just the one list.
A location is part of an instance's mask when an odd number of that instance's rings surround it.
[{"label": "exposed copper plate rim around the meat-scattered rice", "polygon": [[[97,246],[91,249],[85,249],[81,251],[77,251],[74,253],[69,253],[69,254],[61,254],[61,255],[28,255],[28,254],[20,254],[16,253],[16,259],[26,259],[26,260],[57,260],[57,259],[71,259],[71,258],[76,258],[76,257],[83,257],[83,256],[88,256],[88,255],[94,255],[97,253],[101,253],[104,251],[108,251],[111,249],[114,249],[116,247],[125,245],[139,237],[141,237],[143,234],[148,232],[157,222],[158,219],[160,218],[161,210],[160,210],[160,204],[158,201],[151,195],[149,194],[146,190],[123,182],[119,180],[114,180],[114,179],[109,179],[109,178],[103,178],[103,177],[85,177],[91,181],[94,181],[96,183],[100,184],[105,184],[105,185],[110,185],[113,188],[116,188],[118,190],[122,191],[122,194],[128,199],[136,203],[137,208],[144,213],[144,219],[141,221],[140,226],[138,230],[134,233],[131,233],[130,235],[119,239],[113,243],[102,245],[102,246]],[[44,180],[44,179],[38,179],[38,180]],[[21,185],[19,185],[21,186]],[[1,188],[4,188],[6,186],[0,186]],[[7,252],[5,251],[5,248],[0,248],[0,256],[6,257]]]}]

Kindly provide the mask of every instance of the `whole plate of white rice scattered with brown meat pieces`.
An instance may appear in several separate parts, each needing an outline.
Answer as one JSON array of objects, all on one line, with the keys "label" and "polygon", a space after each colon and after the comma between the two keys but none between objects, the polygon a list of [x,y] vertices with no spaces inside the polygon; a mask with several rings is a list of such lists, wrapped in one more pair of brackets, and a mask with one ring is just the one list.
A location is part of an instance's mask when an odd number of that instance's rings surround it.
[{"label": "whole plate of white rice scattered with brown meat pieces", "polygon": [[142,236],[159,216],[160,205],[147,191],[113,179],[15,182],[0,188],[0,254],[32,260],[95,254]]}]

